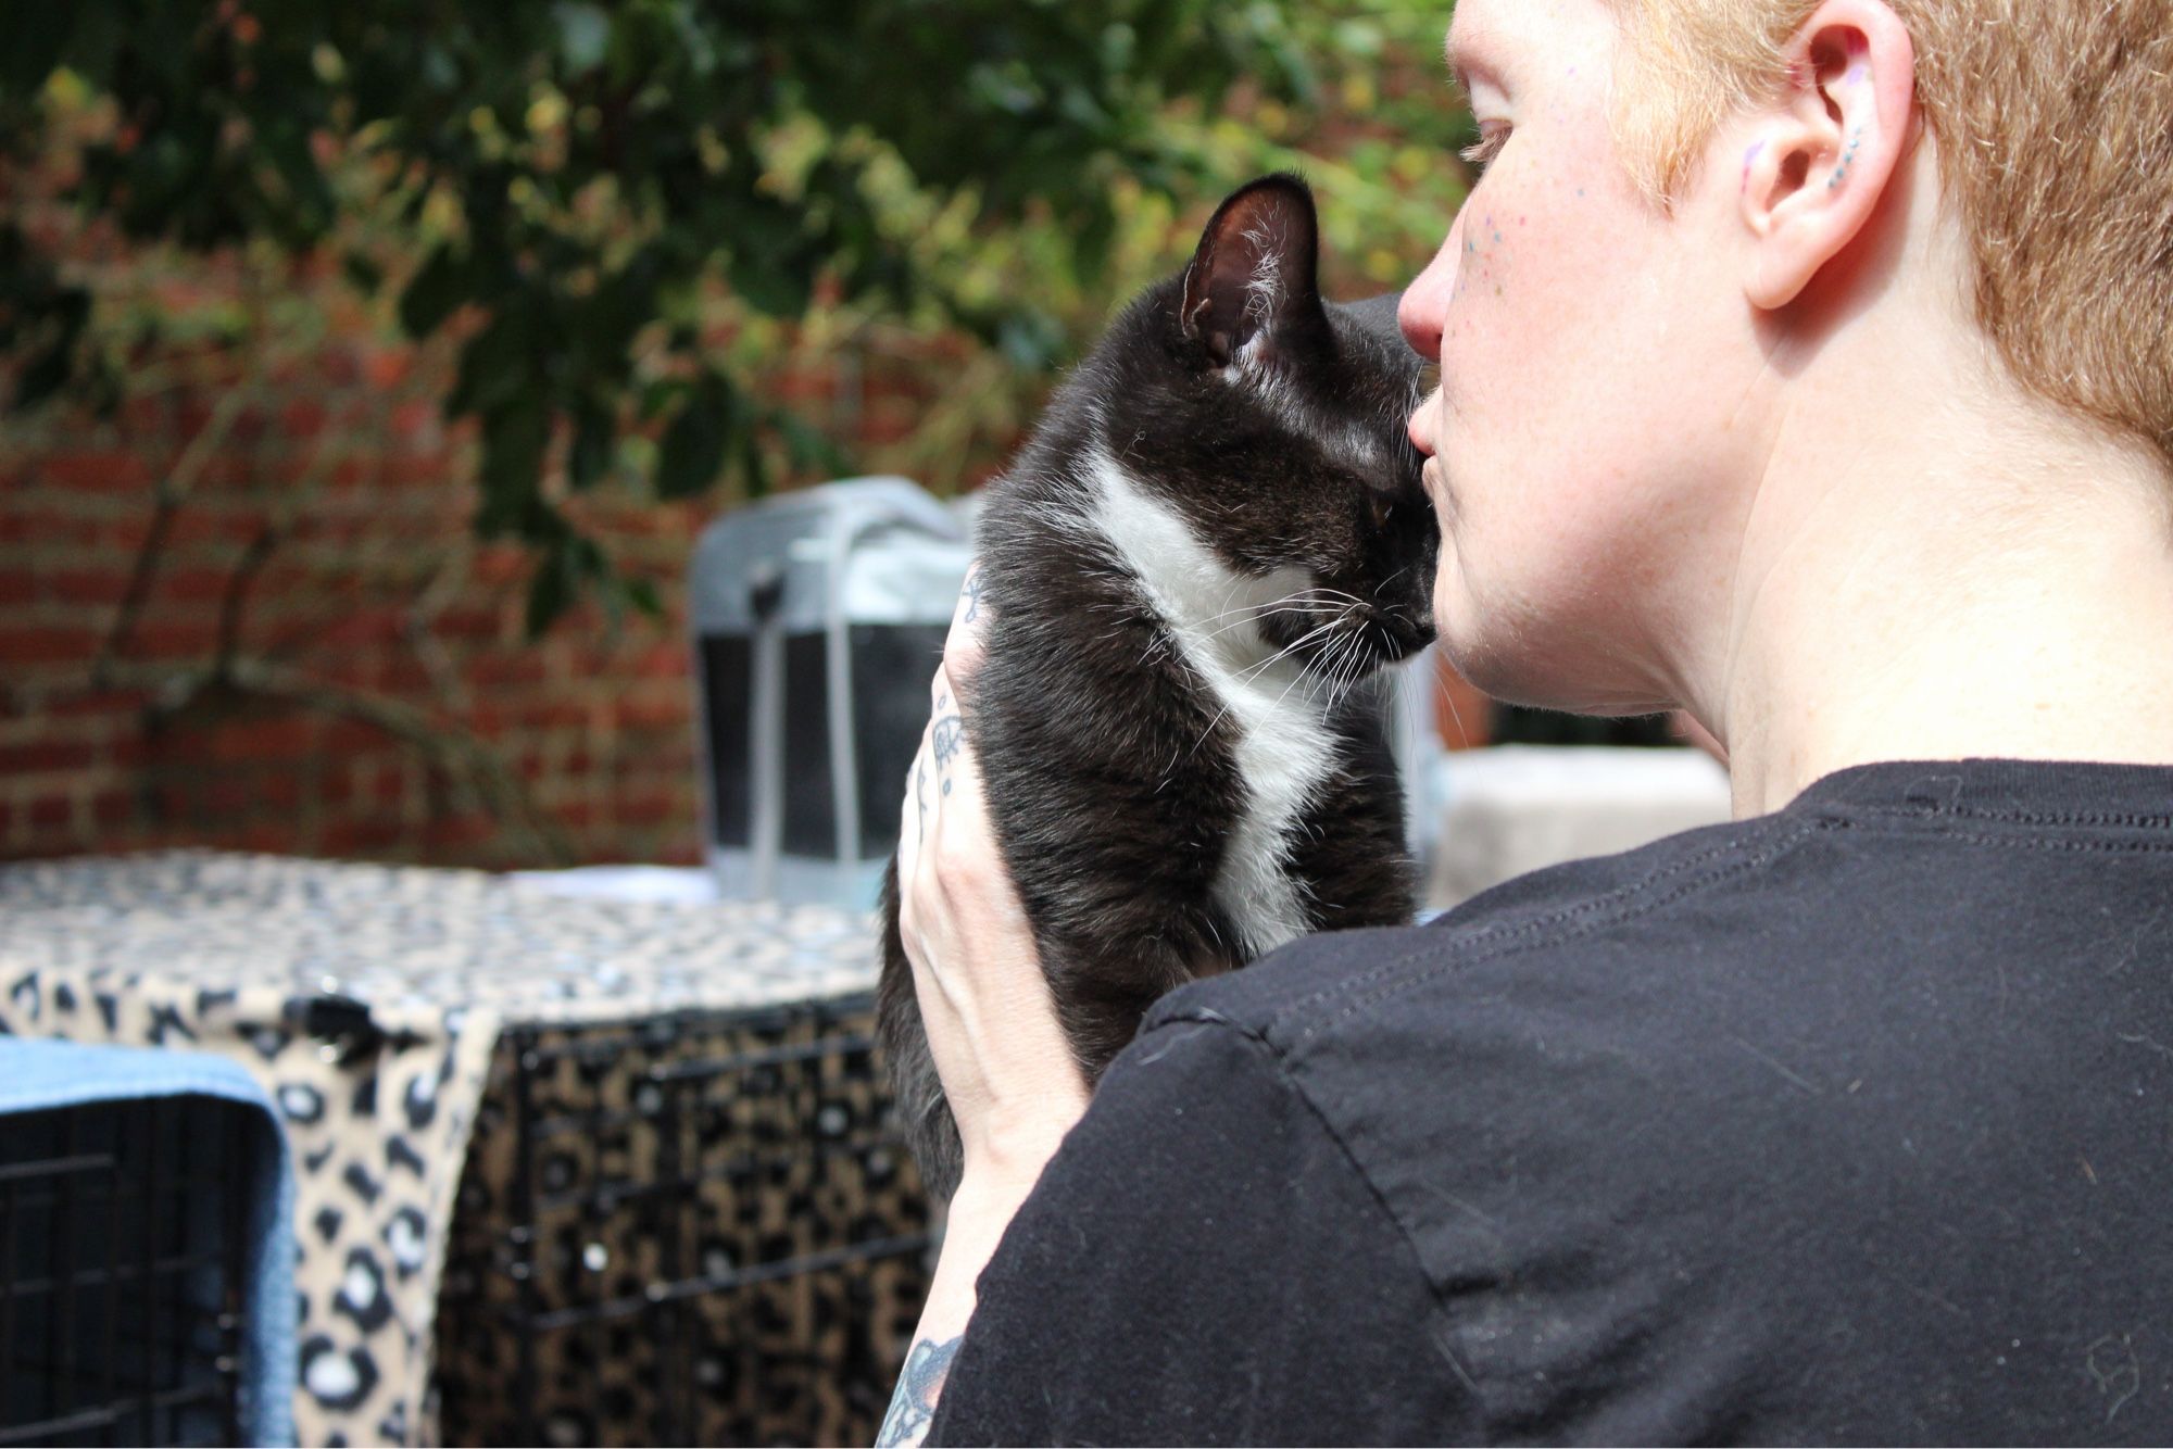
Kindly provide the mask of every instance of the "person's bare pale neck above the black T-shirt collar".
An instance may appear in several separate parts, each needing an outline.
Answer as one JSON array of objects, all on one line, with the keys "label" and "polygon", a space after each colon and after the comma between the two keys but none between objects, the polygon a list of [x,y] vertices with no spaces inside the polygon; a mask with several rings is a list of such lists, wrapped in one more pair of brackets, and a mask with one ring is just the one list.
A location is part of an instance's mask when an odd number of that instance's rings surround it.
[{"label": "person's bare pale neck above the black T-shirt collar", "polygon": [[1723,669],[1693,710],[1728,747],[1736,815],[1875,760],[2173,765],[2164,463],[2010,389],[1856,402],[1817,408],[1869,419],[1838,467],[1830,428],[1827,458],[1784,467],[1817,454],[1782,421],[1745,530]]}]

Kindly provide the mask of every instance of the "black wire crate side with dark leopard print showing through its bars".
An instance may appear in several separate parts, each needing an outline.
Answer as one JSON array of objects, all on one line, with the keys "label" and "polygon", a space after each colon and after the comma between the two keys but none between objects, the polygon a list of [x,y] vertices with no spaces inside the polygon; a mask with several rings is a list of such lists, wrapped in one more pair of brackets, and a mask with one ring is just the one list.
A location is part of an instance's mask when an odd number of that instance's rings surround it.
[{"label": "black wire crate side with dark leopard print showing through its bars", "polygon": [[439,1299],[448,1442],[871,1442],[928,1290],[874,1001],[511,1030]]}]

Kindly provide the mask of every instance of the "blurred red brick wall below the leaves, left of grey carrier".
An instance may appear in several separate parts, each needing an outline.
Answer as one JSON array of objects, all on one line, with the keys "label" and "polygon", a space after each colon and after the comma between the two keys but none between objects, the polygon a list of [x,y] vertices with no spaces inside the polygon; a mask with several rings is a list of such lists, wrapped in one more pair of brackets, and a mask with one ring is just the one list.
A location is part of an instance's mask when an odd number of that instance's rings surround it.
[{"label": "blurred red brick wall below the leaves, left of grey carrier", "polygon": [[0,858],[698,858],[704,511],[582,508],[669,617],[530,643],[526,558],[469,539],[443,385],[443,358],[335,337],[228,391],[4,426]]}]

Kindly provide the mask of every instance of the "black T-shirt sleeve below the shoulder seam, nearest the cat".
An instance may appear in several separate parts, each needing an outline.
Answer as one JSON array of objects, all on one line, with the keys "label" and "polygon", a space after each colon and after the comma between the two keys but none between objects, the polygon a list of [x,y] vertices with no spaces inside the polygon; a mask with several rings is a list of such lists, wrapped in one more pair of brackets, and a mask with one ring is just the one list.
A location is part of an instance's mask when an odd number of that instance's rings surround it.
[{"label": "black T-shirt sleeve below the shoulder seam, nearest the cat", "polygon": [[982,1271],[930,1442],[1467,1438],[1441,1330],[1273,1049],[1171,1021],[1102,1078]]}]

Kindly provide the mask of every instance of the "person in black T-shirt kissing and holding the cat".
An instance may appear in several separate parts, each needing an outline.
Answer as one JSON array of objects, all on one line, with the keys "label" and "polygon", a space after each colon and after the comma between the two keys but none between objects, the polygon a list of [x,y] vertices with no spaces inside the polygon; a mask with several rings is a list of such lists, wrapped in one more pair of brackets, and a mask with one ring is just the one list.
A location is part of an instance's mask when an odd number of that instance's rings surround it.
[{"label": "person in black T-shirt kissing and holding the cat", "polygon": [[1089,1095],[937,763],[967,1167],[887,1440],[2173,1440],[2173,7],[1447,50],[1441,645],[1688,710],[1736,819],[1184,986]]}]

